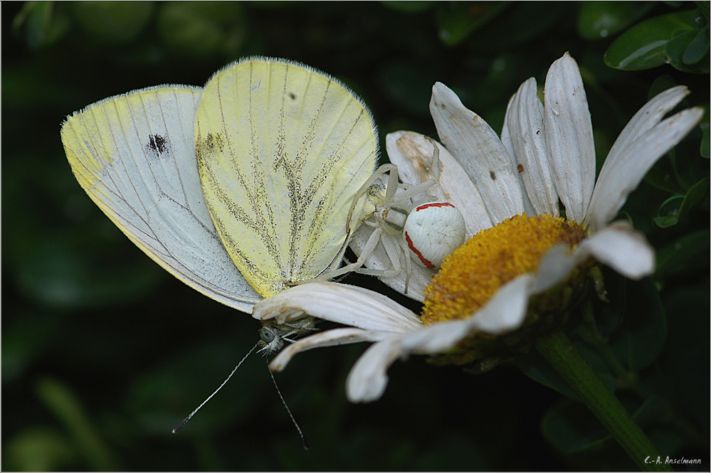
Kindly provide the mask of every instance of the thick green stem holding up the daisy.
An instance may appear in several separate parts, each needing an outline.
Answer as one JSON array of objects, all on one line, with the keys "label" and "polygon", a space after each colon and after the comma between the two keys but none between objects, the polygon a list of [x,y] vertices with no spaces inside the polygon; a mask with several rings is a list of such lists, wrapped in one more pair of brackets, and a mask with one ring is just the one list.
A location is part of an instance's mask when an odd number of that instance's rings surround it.
[{"label": "thick green stem holding up the daisy", "polygon": [[566,334],[558,331],[539,339],[536,349],[552,364],[638,467],[646,472],[673,471],[664,462],[656,463],[657,457],[660,457],[657,448],[604,385],[587,360],[578,353]]}]

